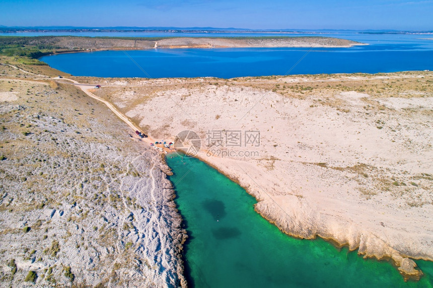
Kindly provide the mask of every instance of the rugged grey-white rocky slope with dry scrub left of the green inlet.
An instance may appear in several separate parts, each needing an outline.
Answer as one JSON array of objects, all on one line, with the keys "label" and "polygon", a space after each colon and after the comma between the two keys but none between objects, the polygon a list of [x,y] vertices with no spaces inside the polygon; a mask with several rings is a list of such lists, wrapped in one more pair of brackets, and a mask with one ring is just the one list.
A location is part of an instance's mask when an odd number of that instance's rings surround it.
[{"label": "rugged grey-white rocky slope with dry scrub left of the green inlet", "polygon": [[35,74],[0,65],[0,287],[185,286],[161,155]]}]

